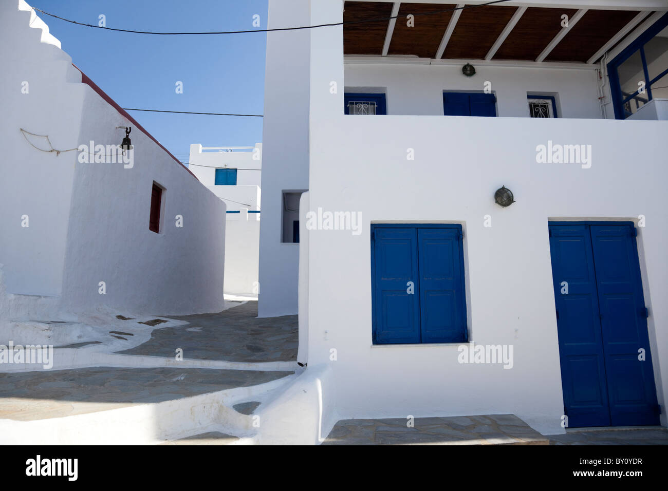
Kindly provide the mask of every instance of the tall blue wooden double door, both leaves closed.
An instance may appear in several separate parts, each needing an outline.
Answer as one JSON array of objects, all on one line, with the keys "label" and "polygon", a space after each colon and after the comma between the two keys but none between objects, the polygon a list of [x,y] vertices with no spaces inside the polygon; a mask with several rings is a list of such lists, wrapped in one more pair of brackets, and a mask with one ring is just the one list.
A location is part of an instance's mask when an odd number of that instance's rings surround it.
[{"label": "tall blue wooden double door, both leaves closed", "polygon": [[568,426],[658,424],[633,226],[549,228]]}]

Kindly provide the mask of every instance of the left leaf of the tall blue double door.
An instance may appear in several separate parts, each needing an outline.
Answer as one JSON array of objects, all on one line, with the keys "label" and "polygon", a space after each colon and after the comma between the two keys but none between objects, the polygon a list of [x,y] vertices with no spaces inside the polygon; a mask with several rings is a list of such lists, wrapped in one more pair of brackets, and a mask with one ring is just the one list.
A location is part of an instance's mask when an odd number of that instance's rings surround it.
[{"label": "left leaf of the tall blue double door", "polygon": [[[559,357],[568,426],[609,426],[605,357],[588,225],[550,225]],[[561,293],[562,282],[568,293]]]}]

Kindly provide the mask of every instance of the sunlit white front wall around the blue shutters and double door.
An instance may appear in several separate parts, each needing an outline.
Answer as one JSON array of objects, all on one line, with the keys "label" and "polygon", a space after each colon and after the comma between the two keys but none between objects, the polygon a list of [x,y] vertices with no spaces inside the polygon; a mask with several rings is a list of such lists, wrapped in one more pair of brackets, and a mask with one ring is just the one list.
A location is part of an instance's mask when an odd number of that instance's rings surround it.
[{"label": "sunlit white front wall around the blue shutters and double door", "polygon": [[[311,3],[311,23],[340,21],[340,4]],[[328,90],[343,80],[341,29],[314,29],[311,49],[310,208],[361,212],[363,223],[359,236],[309,232],[308,363],[332,368],[339,416],[512,413],[541,432],[562,432],[548,220],[639,214],[647,217],[638,243],[665,407],[668,122],[344,116],[343,92]],[[645,144],[625,144],[629,134],[643,134]],[[536,163],[536,145],[548,140],[591,144],[591,168]],[[494,204],[502,185],[516,198],[507,209]],[[491,228],[483,226],[487,214]],[[460,364],[457,345],[372,345],[372,222],[462,224],[470,337],[514,345],[512,369]]]}]

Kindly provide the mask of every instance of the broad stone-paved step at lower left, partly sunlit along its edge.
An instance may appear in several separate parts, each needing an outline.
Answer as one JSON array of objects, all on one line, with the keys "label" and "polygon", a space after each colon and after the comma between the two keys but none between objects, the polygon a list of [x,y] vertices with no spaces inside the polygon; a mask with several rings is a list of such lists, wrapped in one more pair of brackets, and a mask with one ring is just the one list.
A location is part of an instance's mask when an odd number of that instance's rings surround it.
[{"label": "broad stone-paved step at lower left, partly sunlit along its edge", "polygon": [[111,367],[0,373],[0,418],[58,418],[248,387],[291,373]]}]

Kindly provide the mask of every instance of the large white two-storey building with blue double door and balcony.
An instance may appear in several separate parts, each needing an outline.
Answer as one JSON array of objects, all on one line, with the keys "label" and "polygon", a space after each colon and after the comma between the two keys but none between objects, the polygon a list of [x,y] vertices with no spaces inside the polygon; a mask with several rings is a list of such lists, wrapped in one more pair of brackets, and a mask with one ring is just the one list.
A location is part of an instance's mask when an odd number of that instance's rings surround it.
[{"label": "large white two-storey building with blue double door and balcony", "polygon": [[668,3],[480,3],[269,2],[270,28],[348,23],[267,35],[260,311],[295,306],[276,209],[308,190],[308,367],[265,442],[407,415],[667,424]]}]

